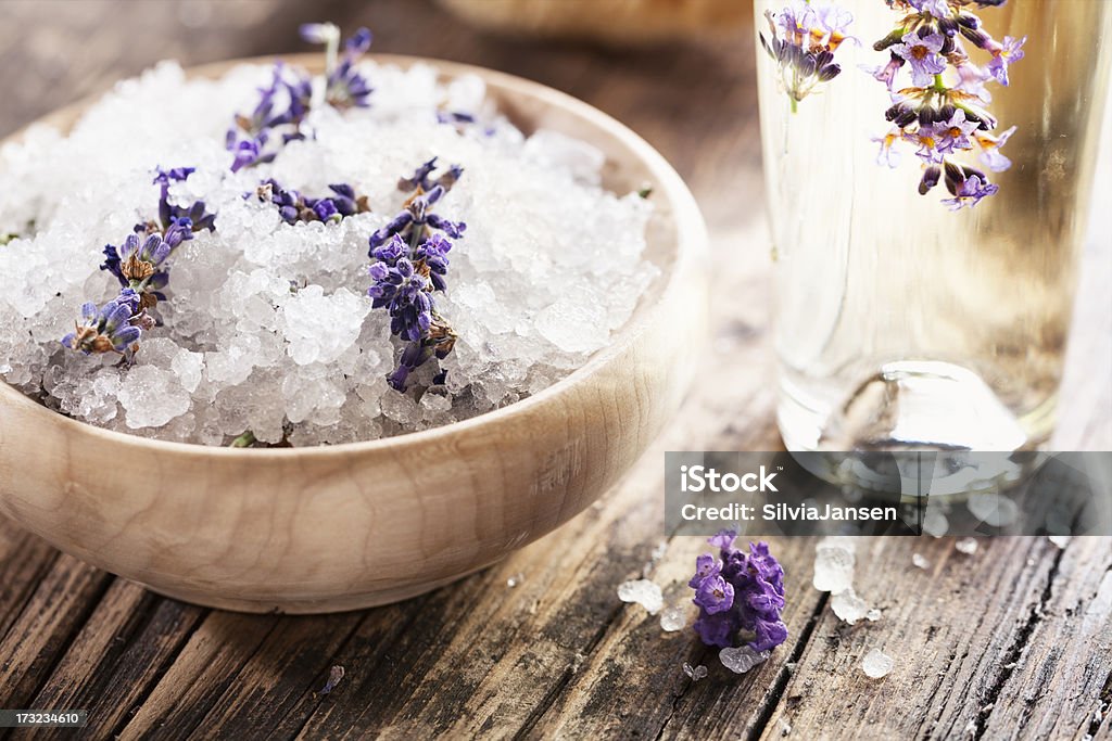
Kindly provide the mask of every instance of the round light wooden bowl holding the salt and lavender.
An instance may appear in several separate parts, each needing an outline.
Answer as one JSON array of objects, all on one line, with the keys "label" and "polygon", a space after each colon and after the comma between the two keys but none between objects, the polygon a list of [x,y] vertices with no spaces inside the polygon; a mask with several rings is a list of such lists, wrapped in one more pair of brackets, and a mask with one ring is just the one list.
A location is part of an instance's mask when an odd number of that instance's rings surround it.
[{"label": "round light wooden bowl holding the salt and lavender", "polygon": [[[291,59],[307,68],[316,60]],[[236,63],[191,73],[217,77]],[[479,74],[526,130],[546,127],[599,147],[607,187],[652,183],[648,258],[662,274],[614,343],[497,411],[320,448],[222,449],[120,434],[0,382],[0,513],[162,594],[311,613],[394,602],[459,579],[566,522],[622,477],[676,411],[698,362],[707,308],[698,208],[661,154],[590,106],[500,72],[430,63],[445,78]],[[88,104],[43,121],[68,129]]]}]

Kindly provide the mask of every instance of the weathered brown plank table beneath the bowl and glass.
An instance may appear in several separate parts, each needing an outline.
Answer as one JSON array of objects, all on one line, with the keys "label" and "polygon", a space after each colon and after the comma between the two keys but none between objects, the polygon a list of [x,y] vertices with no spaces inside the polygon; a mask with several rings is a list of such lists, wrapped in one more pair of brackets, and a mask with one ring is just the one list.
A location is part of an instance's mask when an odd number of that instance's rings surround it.
[{"label": "weathered brown plank table beneath the bowl and glass", "polygon": [[[810,585],[814,541],[778,539],[791,638],[744,677],[689,631],[662,633],[617,600],[617,584],[643,569],[669,600],[685,599],[704,549],[663,537],[662,451],[780,445],[747,34],[619,53],[484,37],[425,1],[312,12],[292,2],[0,2],[0,136],[160,58],[294,50],[298,23],[324,18],[373,27],[378,51],[533,78],[632,126],[691,183],[721,260],[703,381],[624,483],[570,524],[500,565],[377,610],[285,618],[183,604],[0,521],[0,708],[88,709],[88,738],[1112,739],[1112,720],[1094,715],[1112,704],[1108,539],[1065,550],[983,540],[971,557],[952,539],[864,540],[857,591],[884,614],[854,627]],[[1059,449],[1112,449],[1106,179],[1100,192],[1105,237],[1086,256]],[[652,562],[658,544],[666,550]],[[912,567],[913,551],[927,571]],[[860,670],[874,647],[896,661],[883,681]],[[685,661],[709,677],[693,683]],[[334,664],[347,675],[321,697]]]}]

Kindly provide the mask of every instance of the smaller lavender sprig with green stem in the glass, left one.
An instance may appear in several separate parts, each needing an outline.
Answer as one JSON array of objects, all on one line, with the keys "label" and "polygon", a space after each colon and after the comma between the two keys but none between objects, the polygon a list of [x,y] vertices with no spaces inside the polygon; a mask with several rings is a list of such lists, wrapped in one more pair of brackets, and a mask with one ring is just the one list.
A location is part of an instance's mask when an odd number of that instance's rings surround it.
[{"label": "smaller lavender sprig with green stem in the glass, left one", "polygon": [[836,4],[792,0],[780,12],[765,11],[768,39],[758,33],[761,47],[780,66],[780,84],[787,93],[792,112],[815,88],[842,72],[834,52],[847,34],[853,14]]}]

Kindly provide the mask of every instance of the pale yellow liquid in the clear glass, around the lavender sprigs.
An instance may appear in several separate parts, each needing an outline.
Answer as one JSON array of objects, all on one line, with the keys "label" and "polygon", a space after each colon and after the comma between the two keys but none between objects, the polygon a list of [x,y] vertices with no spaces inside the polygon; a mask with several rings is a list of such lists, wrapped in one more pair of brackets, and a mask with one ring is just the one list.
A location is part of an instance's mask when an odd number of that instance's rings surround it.
[{"label": "pale yellow liquid in the clear glass, around the lavender sprigs", "polygon": [[[756,28],[767,34],[756,0]],[[912,148],[875,162],[888,93],[858,69],[900,13],[855,17],[841,76],[792,111],[775,62],[757,72],[776,273],[778,417],[792,450],[1037,448],[1053,428],[1112,67],[1112,1],[1011,0],[976,11],[1026,36],[1011,86],[990,83],[1013,162],[1000,192],[951,212]],[[971,56],[986,61],[966,43]],[[979,54],[981,54],[979,57]],[[907,79],[906,77],[904,79]],[[910,82],[909,82],[910,83]],[[976,163],[975,152],[964,157]]]}]

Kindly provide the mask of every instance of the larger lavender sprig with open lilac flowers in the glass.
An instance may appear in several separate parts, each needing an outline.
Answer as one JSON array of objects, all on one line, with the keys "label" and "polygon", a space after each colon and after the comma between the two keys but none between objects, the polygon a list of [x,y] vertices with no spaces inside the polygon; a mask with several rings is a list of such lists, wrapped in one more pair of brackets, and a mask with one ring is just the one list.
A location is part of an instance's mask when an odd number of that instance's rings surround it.
[{"label": "larger lavender sprig with open lilac flowers in the glass", "polygon": [[[979,150],[981,163],[993,172],[1012,166],[1000,148],[1015,127],[991,133],[996,119],[986,108],[992,96],[985,83],[1009,84],[1009,66],[1023,59],[1026,37],[996,41],[971,10],[1002,6],[1004,0],[888,0],[888,4],[905,14],[874,44],[877,51],[888,51],[887,63],[866,69],[892,92],[885,118],[893,127],[873,140],[881,146],[877,162],[894,168],[900,162],[895,146],[915,147],[923,162],[919,192],[926,194],[944,180],[953,198],[942,202],[954,211],[972,208],[1000,188],[982,170],[954,158]],[[987,64],[973,63],[963,38],[991,54]],[[904,67],[912,84],[897,89]]]}]

